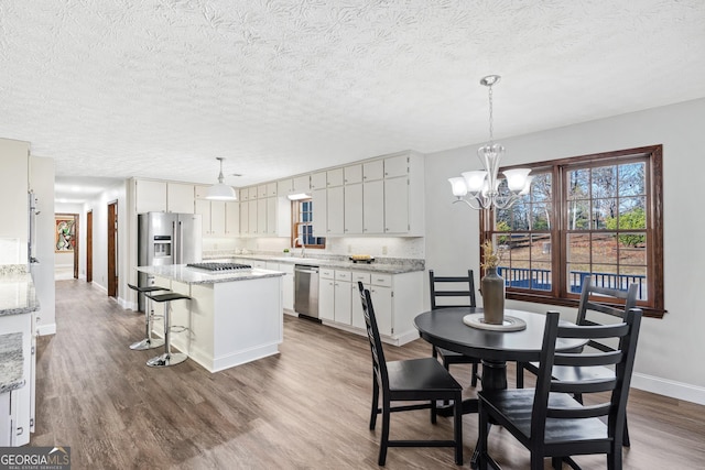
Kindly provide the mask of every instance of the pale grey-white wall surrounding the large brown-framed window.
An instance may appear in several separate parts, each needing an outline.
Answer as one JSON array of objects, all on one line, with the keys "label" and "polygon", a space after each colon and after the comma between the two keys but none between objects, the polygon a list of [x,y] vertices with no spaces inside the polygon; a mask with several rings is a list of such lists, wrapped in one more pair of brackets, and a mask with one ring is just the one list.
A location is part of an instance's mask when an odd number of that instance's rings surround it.
[{"label": "pale grey-white wall surrounding the large brown-framed window", "polygon": [[[597,152],[663,144],[664,291],[668,314],[642,323],[632,385],[705,404],[705,233],[699,172],[705,155],[705,99],[617,116],[533,134],[498,139],[505,164],[554,160]],[[498,122],[501,129],[501,122]],[[447,178],[478,170],[477,146],[426,156],[426,267],[479,273],[479,216],[452,205]],[[481,300],[481,297],[478,298]],[[509,307],[546,311],[555,307],[510,302]],[[575,310],[561,309],[574,319]]]}]

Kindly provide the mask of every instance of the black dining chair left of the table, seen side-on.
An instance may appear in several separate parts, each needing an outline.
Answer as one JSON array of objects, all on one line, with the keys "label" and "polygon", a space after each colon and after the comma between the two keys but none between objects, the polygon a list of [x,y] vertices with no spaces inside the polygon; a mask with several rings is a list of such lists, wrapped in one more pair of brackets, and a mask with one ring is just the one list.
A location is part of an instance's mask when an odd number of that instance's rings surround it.
[{"label": "black dining chair left of the table, seen side-on", "polygon": [[[389,447],[454,447],[455,463],[463,464],[463,386],[433,358],[384,360],[384,351],[377,327],[375,307],[369,289],[358,282],[367,337],[372,352],[372,413],[370,429],[375,429],[377,415],[382,415],[378,463],[383,466]],[[381,391],[381,407],[379,406]],[[431,423],[436,423],[436,401],[453,401],[453,439],[447,440],[390,440],[390,415],[393,412],[431,409]],[[391,402],[425,402],[395,405]]]}]

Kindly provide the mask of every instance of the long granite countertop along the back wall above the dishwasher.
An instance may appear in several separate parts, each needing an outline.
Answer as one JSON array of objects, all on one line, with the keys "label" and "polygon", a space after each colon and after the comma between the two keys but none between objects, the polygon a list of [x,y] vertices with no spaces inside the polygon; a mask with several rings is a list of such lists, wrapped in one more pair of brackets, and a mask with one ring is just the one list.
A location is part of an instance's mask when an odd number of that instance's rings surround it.
[{"label": "long granite countertop along the back wall above the dishwasher", "polygon": [[338,270],[366,271],[372,273],[402,274],[413,273],[425,270],[424,260],[386,258],[376,260],[371,263],[358,262],[354,263],[346,256],[333,255],[330,258],[299,258],[299,256],[281,256],[271,254],[228,254],[226,256],[204,256],[204,259],[213,259],[227,261],[232,259],[239,260],[257,260],[257,261],[274,261],[288,264],[306,264],[310,266],[333,267]]}]

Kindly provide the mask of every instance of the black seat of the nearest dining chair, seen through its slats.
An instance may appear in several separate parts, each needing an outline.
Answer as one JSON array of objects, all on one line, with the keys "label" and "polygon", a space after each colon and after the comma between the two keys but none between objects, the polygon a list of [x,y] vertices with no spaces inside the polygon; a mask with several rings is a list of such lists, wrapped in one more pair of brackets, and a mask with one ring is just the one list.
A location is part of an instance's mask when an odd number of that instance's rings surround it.
[{"label": "black seat of the nearest dining chair, seen through its slats", "polygon": [[[495,412],[490,412],[491,416],[495,416],[496,413],[506,416],[511,422],[511,425],[523,435],[524,439],[529,440],[531,437],[531,411],[534,398],[533,389],[480,391],[478,396],[484,406],[488,406]],[[554,392],[549,395],[549,405],[552,407],[582,406],[573,396]],[[508,423],[502,422],[499,424],[502,426],[508,425]],[[607,436],[607,425],[599,418],[546,419],[545,444],[547,446],[558,446],[562,442],[571,442],[571,446],[579,446],[579,442],[594,446],[600,440],[604,440],[605,445],[608,446],[611,438]]]}]

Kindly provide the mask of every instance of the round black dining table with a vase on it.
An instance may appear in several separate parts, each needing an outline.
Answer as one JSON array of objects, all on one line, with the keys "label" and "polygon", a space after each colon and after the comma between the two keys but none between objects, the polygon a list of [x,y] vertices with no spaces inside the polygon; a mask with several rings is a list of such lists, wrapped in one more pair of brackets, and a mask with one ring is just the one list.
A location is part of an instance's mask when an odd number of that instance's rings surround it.
[{"label": "round black dining table with a vase on it", "polygon": [[[531,311],[506,309],[507,329],[501,327],[484,329],[470,317],[481,317],[480,307],[443,307],[419,314],[414,325],[421,338],[433,346],[480,359],[482,363],[482,390],[507,389],[507,362],[539,361],[543,345],[545,315]],[[469,317],[468,317],[469,316]],[[465,319],[465,321],[464,321]],[[467,323],[470,323],[468,325]],[[562,320],[562,323],[566,323]],[[517,329],[516,326],[524,326]],[[481,326],[481,325],[480,325]],[[486,326],[492,328],[492,326]],[[556,351],[579,350],[586,345],[582,338],[560,338]],[[463,413],[477,413],[477,398],[463,401]],[[440,408],[438,415],[451,416],[452,407]],[[476,447],[477,449],[477,447]],[[473,456],[471,467],[477,468],[477,452]]]}]

